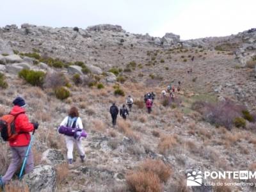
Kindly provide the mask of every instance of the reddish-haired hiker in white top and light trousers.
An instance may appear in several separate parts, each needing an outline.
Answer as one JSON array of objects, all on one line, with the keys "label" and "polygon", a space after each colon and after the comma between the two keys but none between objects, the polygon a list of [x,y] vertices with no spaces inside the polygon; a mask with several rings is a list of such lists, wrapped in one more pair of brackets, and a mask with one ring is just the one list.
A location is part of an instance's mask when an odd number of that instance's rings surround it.
[{"label": "reddish-haired hiker in white top and light trousers", "polygon": [[[60,127],[61,126],[72,127],[73,129],[83,130],[83,123],[81,118],[79,117],[78,109],[76,107],[70,108],[70,110],[68,111],[68,116],[66,116],[61,122]],[[85,159],[85,154],[84,154],[84,149],[83,149],[81,140],[76,140],[74,136],[65,135],[65,141],[66,141],[66,147],[67,147],[68,164],[73,163],[74,143],[76,143],[81,162],[83,163]]]}]

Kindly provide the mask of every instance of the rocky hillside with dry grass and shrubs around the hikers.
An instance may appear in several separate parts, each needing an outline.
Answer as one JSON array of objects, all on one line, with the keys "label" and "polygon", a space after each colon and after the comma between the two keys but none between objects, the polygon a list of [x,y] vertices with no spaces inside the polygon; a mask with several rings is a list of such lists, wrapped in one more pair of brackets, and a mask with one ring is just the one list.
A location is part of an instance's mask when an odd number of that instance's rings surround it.
[{"label": "rocky hillside with dry grass and shrubs around the hikers", "polygon": [[[253,191],[187,187],[186,174],[255,169],[255,34],[182,42],[172,33],[156,38],[112,25],[1,28],[0,115],[22,95],[29,118],[40,123],[36,168],[6,191]],[[178,81],[175,99],[163,98]],[[147,92],[156,93],[150,114]],[[112,127],[109,106],[120,107],[127,95],[134,108]],[[88,131],[86,162],[75,152],[72,167],[56,132],[70,106]],[[0,152],[3,175],[10,150],[1,144]]]}]

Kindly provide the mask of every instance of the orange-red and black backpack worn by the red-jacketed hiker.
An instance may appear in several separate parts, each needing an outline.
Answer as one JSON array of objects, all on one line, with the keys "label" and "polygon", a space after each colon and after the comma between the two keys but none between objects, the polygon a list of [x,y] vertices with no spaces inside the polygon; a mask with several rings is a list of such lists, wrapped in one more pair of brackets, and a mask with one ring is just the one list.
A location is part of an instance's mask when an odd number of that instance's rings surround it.
[{"label": "orange-red and black backpack worn by the red-jacketed hiker", "polygon": [[4,115],[0,118],[0,132],[1,138],[4,141],[14,141],[17,136],[20,134],[15,131],[15,119],[22,113],[17,115]]}]

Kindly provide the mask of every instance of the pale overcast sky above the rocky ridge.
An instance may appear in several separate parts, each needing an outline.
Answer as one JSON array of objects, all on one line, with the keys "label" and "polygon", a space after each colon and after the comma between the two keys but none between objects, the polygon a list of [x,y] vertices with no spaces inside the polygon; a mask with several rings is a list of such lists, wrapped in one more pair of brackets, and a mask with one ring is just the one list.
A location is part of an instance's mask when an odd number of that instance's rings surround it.
[{"label": "pale overcast sky above the rocky ridge", "polygon": [[172,32],[186,40],[256,28],[255,7],[256,0],[2,0],[0,26],[118,24],[131,33]]}]

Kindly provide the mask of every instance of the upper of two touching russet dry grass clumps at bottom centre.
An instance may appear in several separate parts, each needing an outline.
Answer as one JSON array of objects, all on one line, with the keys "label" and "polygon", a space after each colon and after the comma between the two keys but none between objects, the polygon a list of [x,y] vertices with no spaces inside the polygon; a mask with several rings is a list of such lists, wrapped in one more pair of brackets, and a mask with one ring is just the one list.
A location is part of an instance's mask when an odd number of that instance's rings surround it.
[{"label": "upper of two touching russet dry grass clumps at bottom centre", "polygon": [[170,166],[163,163],[161,160],[146,159],[140,164],[139,169],[145,172],[155,173],[161,182],[166,182],[172,173]]}]

